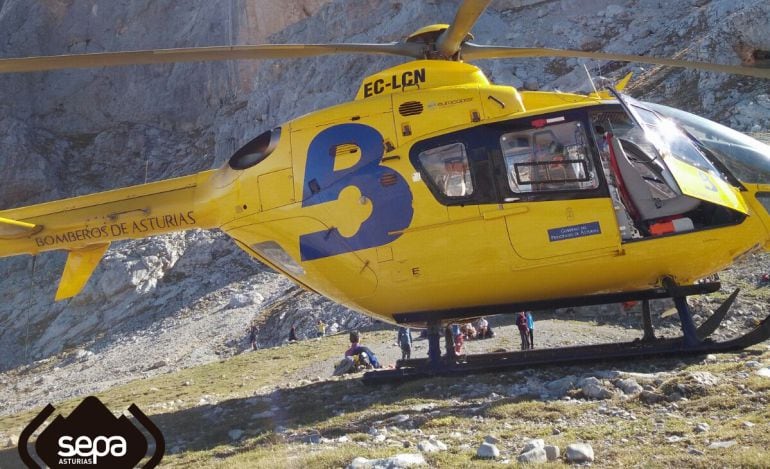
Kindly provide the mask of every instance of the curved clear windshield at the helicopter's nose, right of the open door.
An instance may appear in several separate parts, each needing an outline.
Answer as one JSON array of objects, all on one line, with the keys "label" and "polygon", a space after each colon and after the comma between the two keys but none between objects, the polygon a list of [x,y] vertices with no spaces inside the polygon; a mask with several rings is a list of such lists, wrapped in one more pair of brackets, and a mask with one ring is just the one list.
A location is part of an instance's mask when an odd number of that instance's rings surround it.
[{"label": "curved clear windshield at the helicopter's nose, right of the open door", "polygon": [[689,112],[661,104],[644,105],[681,125],[740,181],[770,184],[770,146]]}]

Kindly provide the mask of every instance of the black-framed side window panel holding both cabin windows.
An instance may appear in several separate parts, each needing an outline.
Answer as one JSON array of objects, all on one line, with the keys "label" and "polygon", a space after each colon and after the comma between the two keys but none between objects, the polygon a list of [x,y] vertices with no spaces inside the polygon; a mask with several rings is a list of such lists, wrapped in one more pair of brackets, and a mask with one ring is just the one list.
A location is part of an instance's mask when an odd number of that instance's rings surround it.
[{"label": "black-framed side window panel holding both cabin windows", "polygon": [[447,206],[607,197],[587,117],[565,111],[426,138],[409,151],[413,179]]}]

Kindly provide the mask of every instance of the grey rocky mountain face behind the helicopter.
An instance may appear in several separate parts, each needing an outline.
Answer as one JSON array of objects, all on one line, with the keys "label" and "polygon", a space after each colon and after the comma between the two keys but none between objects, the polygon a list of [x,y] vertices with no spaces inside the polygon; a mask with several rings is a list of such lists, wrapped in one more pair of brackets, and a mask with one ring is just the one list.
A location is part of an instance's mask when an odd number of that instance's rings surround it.
[{"label": "grey rocky mountain face behind the helicopter", "polygon": [[[51,55],[203,45],[389,42],[449,22],[458,2],[391,0],[0,0],[0,55]],[[576,2],[497,0],[476,41],[649,54],[738,64],[770,51],[763,0]],[[761,54],[760,54],[761,55]],[[333,56],[0,75],[0,207],[156,181],[218,167],[283,121],[349,100],[392,57]],[[491,80],[528,89],[588,90],[593,75],[635,72],[635,97],[738,130],[770,129],[770,82],[577,59],[482,61]],[[55,303],[65,256],[0,259],[0,370],[65,350],[135,350],[215,359],[317,318],[371,322],[300,292],[221,233],[187,232],[112,245],[83,293]],[[264,317],[263,317],[264,319]],[[193,325],[205,321],[208,328]],[[155,332],[153,332],[155,331]],[[155,334],[155,335],[153,335]],[[143,337],[154,338],[144,341]],[[184,344],[184,346],[182,346]],[[131,356],[125,349],[125,357]],[[159,351],[159,353],[161,353]],[[202,358],[201,358],[202,357]],[[147,357],[147,360],[153,359]],[[156,358],[160,359],[160,357]]]}]

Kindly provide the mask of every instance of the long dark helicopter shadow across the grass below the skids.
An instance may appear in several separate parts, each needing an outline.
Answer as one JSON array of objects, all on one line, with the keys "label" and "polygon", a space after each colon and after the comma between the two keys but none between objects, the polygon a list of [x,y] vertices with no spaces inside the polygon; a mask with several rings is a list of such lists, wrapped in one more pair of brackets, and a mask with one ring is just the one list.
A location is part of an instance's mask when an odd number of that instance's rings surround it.
[{"label": "long dark helicopter shadow across the grass below the skids", "polygon": [[[447,418],[447,424],[456,417],[495,418],[494,409],[506,404],[560,402],[543,401],[540,396],[529,394],[509,395],[495,401],[486,399],[492,392],[505,395],[505,390],[512,386],[521,389],[532,377],[549,382],[568,375],[595,374],[596,370],[651,373],[699,363],[702,357],[672,357],[423,378],[399,385],[365,386],[360,379],[317,382],[155,414],[150,419],[164,435],[166,455],[208,452],[203,457],[227,457],[286,442],[318,443],[321,437],[348,435],[355,441],[356,434],[366,434],[372,427],[410,429],[422,428],[428,422],[428,426],[441,425],[441,418]],[[397,418],[400,415],[408,418]],[[0,451],[0,467],[24,467],[16,448]]]}]

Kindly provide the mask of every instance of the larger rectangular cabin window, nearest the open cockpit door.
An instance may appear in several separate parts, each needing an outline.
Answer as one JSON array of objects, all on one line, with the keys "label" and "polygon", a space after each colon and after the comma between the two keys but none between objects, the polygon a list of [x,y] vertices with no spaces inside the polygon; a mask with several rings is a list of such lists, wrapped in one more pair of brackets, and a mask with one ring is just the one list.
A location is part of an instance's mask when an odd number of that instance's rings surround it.
[{"label": "larger rectangular cabin window, nearest the open cockpit door", "polygon": [[500,137],[508,186],[514,193],[599,187],[581,122],[562,122]]}]

